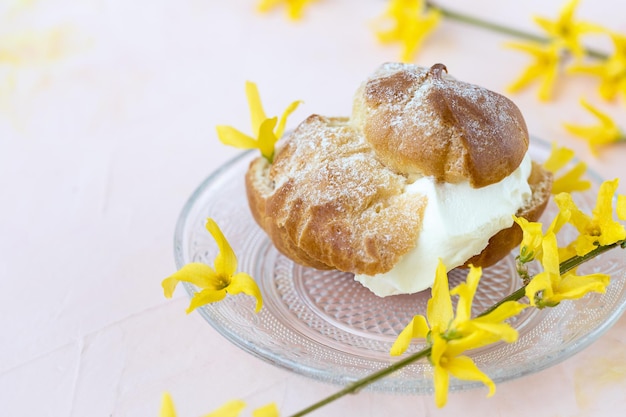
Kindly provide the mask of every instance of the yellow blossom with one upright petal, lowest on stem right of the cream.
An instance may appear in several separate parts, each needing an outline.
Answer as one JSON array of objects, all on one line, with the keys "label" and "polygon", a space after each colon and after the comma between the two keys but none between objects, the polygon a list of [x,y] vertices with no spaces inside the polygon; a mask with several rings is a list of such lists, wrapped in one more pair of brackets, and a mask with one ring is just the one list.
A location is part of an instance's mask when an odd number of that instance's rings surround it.
[{"label": "yellow blossom with one upright petal, lowest on stem right of the cream", "polygon": [[589,274],[578,276],[574,273],[560,273],[560,260],[556,235],[548,233],[542,242],[543,271],[533,277],[526,286],[526,296],[531,305],[538,308],[554,307],[563,300],[581,298],[588,292],[603,293],[609,285],[610,276]]}]

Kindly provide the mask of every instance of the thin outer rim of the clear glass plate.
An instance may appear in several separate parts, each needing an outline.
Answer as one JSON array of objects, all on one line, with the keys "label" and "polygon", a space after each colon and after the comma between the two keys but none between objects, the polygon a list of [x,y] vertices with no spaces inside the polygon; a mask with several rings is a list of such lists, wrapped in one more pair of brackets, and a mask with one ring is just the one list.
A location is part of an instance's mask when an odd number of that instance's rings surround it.
[{"label": "thin outer rim of the clear glass plate", "polygon": [[[550,144],[542,139],[532,137],[531,146],[538,146],[540,148],[543,148],[543,150],[546,150],[546,149],[549,149]],[[183,206],[183,209],[179,215],[178,221],[176,223],[175,234],[174,234],[174,255],[175,255],[176,266],[178,269],[180,269],[185,264],[185,260],[184,260],[185,254],[183,253],[184,245],[182,244],[182,240],[183,240],[183,236],[185,232],[186,223],[187,223],[190,212],[194,209],[194,206],[196,205],[200,196],[202,196],[203,193],[207,190],[207,188],[213,182],[219,179],[220,176],[224,174],[224,172],[228,171],[232,165],[240,162],[243,159],[249,158],[251,154],[255,152],[256,151],[245,151],[236,155],[230,160],[228,160],[218,169],[213,171],[196,188],[196,190],[188,198],[187,202]],[[587,170],[587,175],[596,184],[599,184],[602,182],[602,178],[591,170]],[[190,284],[183,283],[183,286],[187,294],[189,295],[189,297],[192,297],[193,294],[197,291]],[[218,317],[220,316],[221,313],[217,312],[211,307],[212,306],[210,305],[205,306],[203,308],[197,309],[197,311],[218,333],[220,333],[223,337],[225,337],[234,345],[252,354],[253,356],[256,356],[277,367],[280,367],[280,368],[283,368],[283,369],[286,369],[286,370],[289,370],[297,374],[307,376],[316,380],[320,380],[323,382],[345,385],[347,383],[350,383],[358,379],[358,377],[355,377],[355,376],[350,376],[350,375],[338,376],[334,372],[328,371],[327,369],[318,369],[316,367],[306,366],[302,363],[299,363],[298,361],[291,360],[280,354],[276,354],[269,349],[265,349],[263,346],[259,346],[254,343],[251,343],[251,341],[246,340],[245,338],[242,338],[239,335],[232,332],[231,330],[229,330],[229,328],[223,325],[220,320],[217,320],[217,318],[223,318],[223,317]],[[545,370],[547,368],[550,368],[554,365],[557,365],[563,362],[564,360],[577,354],[578,352],[582,351],[583,349],[591,345],[594,341],[596,341],[601,335],[603,335],[607,330],[609,330],[617,322],[617,320],[621,317],[624,311],[626,311],[626,298],[622,297],[621,303],[617,306],[617,308],[615,308],[615,310],[613,310],[612,314],[606,316],[605,320],[599,326],[595,327],[592,331],[582,334],[580,337],[572,341],[569,341],[567,344],[564,344],[563,347],[559,350],[546,352],[546,354],[543,355],[543,360],[533,361],[532,366],[528,366],[526,368],[519,368],[517,369],[516,372],[512,372],[509,374],[492,377],[493,381],[498,383],[498,382],[504,382],[504,381],[513,380],[513,379],[518,379],[526,375],[540,372],[542,370]],[[328,349],[334,349],[334,347],[328,347]],[[393,362],[392,360],[389,361],[389,363],[392,363],[392,362]],[[374,372],[378,369],[380,368],[372,368],[371,371]],[[450,381],[449,389],[450,391],[462,391],[462,390],[468,390],[468,389],[475,389],[478,387],[482,387],[482,383],[475,382],[475,381],[462,381],[462,380],[457,380],[453,378]],[[413,393],[413,394],[428,394],[428,393],[432,393],[433,391],[432,384],[427,389],[423,389],[423,388],[422,389],[420,388],[415,388],[415,389],[408,388],[407,389],[406,386],[398,387],[394,385],[393,383],[392,384],[375,383],[375,384],[367,386],[365,389],[375,390],[375,391],[396,392],[396,393]]]}]

